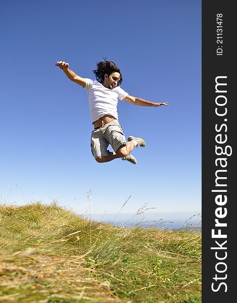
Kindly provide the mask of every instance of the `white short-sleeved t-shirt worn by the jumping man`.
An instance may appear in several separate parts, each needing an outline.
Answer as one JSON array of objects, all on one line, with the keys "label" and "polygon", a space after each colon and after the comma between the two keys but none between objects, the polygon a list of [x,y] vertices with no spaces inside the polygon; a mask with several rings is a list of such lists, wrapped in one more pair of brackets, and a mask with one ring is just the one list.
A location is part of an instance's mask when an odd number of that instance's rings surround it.
[{"label": "white short-sleeved t-shirt worn by the jumping man", "polygon": [[128,93],[120,86],[113,89],[105,87],[98,81],[85,79],[87,90],[91,123],[105,115],[111,115],[118,120],[118,100],[124,99]]}]

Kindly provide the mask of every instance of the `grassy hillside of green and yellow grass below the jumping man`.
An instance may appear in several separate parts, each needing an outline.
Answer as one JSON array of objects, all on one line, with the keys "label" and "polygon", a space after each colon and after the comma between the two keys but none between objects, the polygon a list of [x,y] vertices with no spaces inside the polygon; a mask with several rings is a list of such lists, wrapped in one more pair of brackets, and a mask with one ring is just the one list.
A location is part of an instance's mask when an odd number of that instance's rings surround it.
[{"label": "grassy hillside of green and yellow grass below the jumping man", "polygon": [[0,302],[201,302],[201,233],[0,206]]}]

